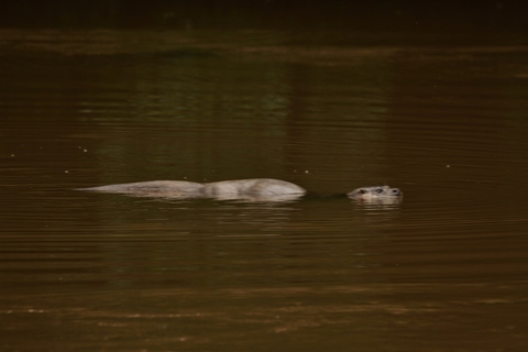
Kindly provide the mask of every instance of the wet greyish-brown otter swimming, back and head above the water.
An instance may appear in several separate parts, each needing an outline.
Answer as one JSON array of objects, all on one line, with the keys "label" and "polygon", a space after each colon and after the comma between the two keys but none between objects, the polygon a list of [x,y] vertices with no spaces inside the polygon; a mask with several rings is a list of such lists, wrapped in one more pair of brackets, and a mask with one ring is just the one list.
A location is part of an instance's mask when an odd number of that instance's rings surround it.
[{"label": "wet greyish-brown otter swimming, back and head above the water", "polygon": [[[307,195],[307,190],[295,184],[274,178],[250,178],[217,183],[193,183],[187,180],[151,180],[119,184],[77,190],[111,194],[128,194],[138,197],[169,199],[245,199],[254,201],[295,200]],[[398,188],[389,186],[361,187],[351,193],[338,195],[360,201],[394,202],[403,197]]]}]

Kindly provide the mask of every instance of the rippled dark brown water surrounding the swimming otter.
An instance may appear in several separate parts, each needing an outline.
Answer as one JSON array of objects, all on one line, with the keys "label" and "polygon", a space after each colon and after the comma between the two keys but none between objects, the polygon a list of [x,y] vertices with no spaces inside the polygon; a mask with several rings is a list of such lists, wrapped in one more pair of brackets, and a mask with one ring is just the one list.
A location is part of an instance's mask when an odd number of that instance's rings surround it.
[{"label": "rippled dark brown water surrounding the swimming otter", "polygon": [[[320,35],[320,34],[319,34]],[[528,43],[2,30],[6,351],[521,351]],[[76,187],[274,177],[402,205]]]}]

